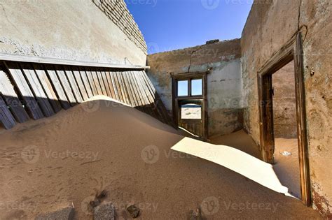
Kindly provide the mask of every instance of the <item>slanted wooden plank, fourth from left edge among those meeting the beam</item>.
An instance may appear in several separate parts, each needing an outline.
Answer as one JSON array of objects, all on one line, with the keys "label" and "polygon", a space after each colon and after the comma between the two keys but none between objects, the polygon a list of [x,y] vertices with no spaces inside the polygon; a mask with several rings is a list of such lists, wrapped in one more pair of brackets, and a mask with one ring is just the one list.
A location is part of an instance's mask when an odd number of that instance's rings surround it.
[{"label": "slanted wooden plank, fourth from left edge among those meeting the beam", "polygon": [[36,75],[39,78],[39,82],[41,82],[41,86],[43,87],[43,91],[45,92],[46,96],[48,97],[48,101],[50,102],[50,105],[52,105],[54,112],[59,112],[62,108],[59,103],[59,100],[57,99],[57,95],[50,83],[50,80],[48,80],[48,76],[46,74],[46,71],[44,71],[43,66],[34,64],[34,70],[36,71]]}]

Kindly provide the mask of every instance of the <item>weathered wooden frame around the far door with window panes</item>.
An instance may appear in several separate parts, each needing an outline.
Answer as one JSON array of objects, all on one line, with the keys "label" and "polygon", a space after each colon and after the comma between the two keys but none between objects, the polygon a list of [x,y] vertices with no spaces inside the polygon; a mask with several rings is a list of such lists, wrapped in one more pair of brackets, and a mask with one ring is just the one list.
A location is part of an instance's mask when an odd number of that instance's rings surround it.
[{"label": "weathered wooden frame around the far door with window panes", "polygon": [[[174,124],[179,126],[179,101],[180,100],[196,100],[202,99],[202,139],[207,140],[208,138],[208,119],[207,119],[207,72],[193,72],[193,73],[171,73],[172,77],[172,115]],[[189,92],[188,96],[178,96],[177,95],[177,81],[189,80],[188,91],[191,91],[191,80],[202,79],[202,95],[201,96],[191,96]]]}]

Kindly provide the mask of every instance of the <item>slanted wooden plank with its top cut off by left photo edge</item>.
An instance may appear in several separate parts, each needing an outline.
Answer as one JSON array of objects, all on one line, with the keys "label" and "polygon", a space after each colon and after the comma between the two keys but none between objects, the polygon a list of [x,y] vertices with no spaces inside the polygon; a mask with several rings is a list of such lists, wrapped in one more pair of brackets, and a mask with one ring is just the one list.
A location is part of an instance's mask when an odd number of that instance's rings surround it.
[{"label": "slanted wooden plank with its top cut off by left photo edge", "polygon": [[23,108],[18,95],[15,93],[7,74],[0,70],[0,92],[4,96],[4,101],[9,106],[17,122],[27,122],[29,115]]}]

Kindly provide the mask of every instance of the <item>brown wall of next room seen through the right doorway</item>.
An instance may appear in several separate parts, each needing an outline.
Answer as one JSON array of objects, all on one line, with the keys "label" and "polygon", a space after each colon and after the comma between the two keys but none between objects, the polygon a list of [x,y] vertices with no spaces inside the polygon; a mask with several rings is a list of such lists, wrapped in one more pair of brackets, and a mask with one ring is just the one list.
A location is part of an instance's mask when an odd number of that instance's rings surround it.
[{"label": "brown wall of next room seen through the right doorway", "polygon": [[298,138],[294,62],[272,75],[275,138]]}]

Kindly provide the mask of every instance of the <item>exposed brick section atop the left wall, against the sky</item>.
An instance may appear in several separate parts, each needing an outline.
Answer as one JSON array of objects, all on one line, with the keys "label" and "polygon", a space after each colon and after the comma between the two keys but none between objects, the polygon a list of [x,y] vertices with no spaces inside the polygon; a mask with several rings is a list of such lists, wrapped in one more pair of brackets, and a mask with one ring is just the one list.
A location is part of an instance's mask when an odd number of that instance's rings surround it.
[{"label": "exposed brick section atop the left wall, against the sky", "polygon": [[92,0],[137,47],[147,54],[146,42],[124,0]]}]

